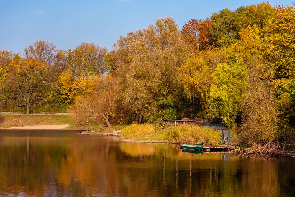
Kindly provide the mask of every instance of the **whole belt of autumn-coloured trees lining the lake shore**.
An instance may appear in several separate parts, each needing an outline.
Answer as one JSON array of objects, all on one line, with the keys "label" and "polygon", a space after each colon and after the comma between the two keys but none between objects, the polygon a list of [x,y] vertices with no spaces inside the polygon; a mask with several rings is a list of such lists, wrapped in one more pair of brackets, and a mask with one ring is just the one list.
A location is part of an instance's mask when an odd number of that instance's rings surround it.
[{"label": "whole belt of autumn-coloured trees lining the lake shore", "polygon": [[[121,36],[113,50],[37,41],[2,51],[2,109],[63,104],[108,126],[189,117],[223,118],[251,141],[286,139],[295,124],[295,10],[268,2],[190,19],[172,17]],[[176,100],[178,116],[176,117]],[[165,101],[165,114],[164,114]]]}]

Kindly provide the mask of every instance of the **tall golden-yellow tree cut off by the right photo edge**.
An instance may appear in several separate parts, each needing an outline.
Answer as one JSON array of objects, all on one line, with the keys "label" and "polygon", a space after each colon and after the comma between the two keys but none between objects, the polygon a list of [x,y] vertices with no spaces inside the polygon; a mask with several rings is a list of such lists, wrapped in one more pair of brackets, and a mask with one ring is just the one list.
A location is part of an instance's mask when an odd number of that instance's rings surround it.
[{"label": "tall golden-yellow tree cut off by the right photo edge", "polygon": [[280,106],[280,127],[294,133],[295,127],[295,10],[276,8],[275,16],[262,29],[261,55],[268,70],[273,72],[272,86]]}]

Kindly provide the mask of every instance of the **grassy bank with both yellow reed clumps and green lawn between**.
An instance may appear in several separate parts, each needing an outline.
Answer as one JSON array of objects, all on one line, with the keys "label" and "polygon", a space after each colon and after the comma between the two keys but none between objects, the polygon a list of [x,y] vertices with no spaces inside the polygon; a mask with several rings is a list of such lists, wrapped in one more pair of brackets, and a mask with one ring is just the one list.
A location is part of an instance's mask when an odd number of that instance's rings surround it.
[{"label": "grassy bank with both yellow reed clumps and green lawn between", "polygon": [[160,129],[152,124],[132,124],[122,129],[122,139],[136,141],[165,141],[167,143],[196,143],[205,142],[207,145],[217,145],[221,137],[219,130],[210,127],[178,126]]}]

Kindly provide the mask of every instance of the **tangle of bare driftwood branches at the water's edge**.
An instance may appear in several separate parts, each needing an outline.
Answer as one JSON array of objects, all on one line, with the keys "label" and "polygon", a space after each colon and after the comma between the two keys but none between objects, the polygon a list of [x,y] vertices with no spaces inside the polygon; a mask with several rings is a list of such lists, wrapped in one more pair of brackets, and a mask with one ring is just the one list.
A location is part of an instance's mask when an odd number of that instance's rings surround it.
[{"label": "tangle of bare driftwood branches at the water's edge", "polygon": [[266,143],[252,143],[252,146],[249,148],[242,149],[237,146],[233,151],[239,152],[241,156],[252,156],[252,155],[260,155],[263,157],[292,157],[294,153],[290,153],[289,150],[286,149],[285,143],[280,142],[266,142]]}]

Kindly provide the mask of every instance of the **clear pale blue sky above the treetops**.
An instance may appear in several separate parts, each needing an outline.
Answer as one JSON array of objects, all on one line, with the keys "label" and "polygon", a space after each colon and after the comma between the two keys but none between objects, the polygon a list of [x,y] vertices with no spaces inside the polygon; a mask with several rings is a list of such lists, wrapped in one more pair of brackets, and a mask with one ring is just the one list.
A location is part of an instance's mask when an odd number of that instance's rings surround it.
[{"label": "clear pale blue sky above the treetops", "polygon": [[[275,1],[269,1],[276,5]],[[294,0],[295,1],[295,0]],[[54,42],[58,49],[73,49],[81,42],[107,47],[120,35],[171,15],[182,28],[191,18],[205,19],[224,8],[258,4],[259,0],[0,0],[0,50],[23,55],[36,40]],[[281,0],[289,6],[292,0]]]}]

